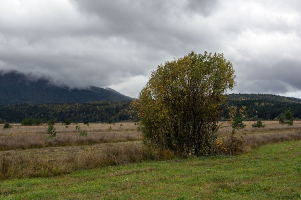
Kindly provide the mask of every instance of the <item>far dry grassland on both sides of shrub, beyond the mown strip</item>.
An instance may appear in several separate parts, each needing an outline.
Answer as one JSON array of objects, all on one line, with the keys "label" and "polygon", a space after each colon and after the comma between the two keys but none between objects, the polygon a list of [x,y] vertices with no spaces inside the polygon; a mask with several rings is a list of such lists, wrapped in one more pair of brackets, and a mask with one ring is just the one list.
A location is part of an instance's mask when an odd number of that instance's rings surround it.
[{"label": "far dry grassland on both sides of shrub, beyond the mown strip", "polygon": [[[236,135],[246,134],[246,137],[253,135],[263,135],[270,133],[292,134],[301,129],[301,121],[295,121],[293,126],[281,125],[278,121],[264,121],[264,128],[253,128],[253,121],[246,121],[246,128],[236,131]],[[66,127],[64,124],[55,124],[57,137],[47,139],[47,125],[22,126],[21,124],[12,124],[10,129],[0,129],[0,150],[14,149],[33,149],[59,146],[92,145],[117,143],[126,141],[141,141],[142,136],[139,126],[136,123],[90,123],[70,124]],[[232,128],[229,124],[221,124],[219,137],[226,139],[231,133]],[[2,125],[3,126],[3,125]],[[79,129],[75,129],[78,126]],[[87,131],[87,137],[79,137],[79,132]],[[85,148],[85,147],[84,147]]]}]

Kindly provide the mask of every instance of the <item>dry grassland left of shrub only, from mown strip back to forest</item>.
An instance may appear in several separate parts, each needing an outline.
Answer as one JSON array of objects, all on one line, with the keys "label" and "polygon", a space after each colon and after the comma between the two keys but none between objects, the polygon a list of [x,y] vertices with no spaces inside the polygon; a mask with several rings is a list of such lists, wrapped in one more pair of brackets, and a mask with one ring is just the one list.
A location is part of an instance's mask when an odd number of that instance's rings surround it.
[{"label": "dry grassland left of shrub only, from mown strip back to forest", "polygon": [[[52,127],[53,129],[49,130],[49,126],[50,129]],[[142,139],[141,133],[137,131],[137,126],[132,123],[127,123],[122,127],[119,124],[101,123],[84,126],[84,130],[89,133],[86,137],[79,137],[79,130],[81,130],[79,127],[83,124],[71,124],[69,128],[65,128],[65,125],[61,124],[50,124],[49,126],[21,126],[15,124],[11,129],[3,129],[2,132],[0,131],[0,153],[1,150],[91,145]],[[76,129],[77,126],[78,129]],[[50,139],[51,134],[54,135],[55,132],[56,137]]]}]

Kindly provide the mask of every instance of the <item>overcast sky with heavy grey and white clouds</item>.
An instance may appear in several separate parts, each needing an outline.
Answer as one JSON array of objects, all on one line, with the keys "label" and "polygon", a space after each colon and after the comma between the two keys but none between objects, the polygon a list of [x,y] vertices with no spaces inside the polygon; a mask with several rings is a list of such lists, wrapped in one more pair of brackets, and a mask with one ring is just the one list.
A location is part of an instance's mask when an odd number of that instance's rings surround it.
[{"label": "overcast sky with heavy grey and white clouds", "polygon": [[137,97],[191,51],[224,53],[234,92],[301,98],[301,1],[0,0],[0,70]]}]

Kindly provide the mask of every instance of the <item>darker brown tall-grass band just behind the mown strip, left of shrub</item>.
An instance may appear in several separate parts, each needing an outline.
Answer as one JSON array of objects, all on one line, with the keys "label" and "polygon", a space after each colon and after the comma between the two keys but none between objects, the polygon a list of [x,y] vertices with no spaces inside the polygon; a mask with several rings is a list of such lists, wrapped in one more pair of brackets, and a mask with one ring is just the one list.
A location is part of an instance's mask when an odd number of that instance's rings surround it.
[{"label": "darker brown tall-grass band just behind the mown strip, left of shrub", "polygon": [[107,132],[88,133],[86,137],[79,137],[78,133],[57,134],[53,139],[47,139],[46,134],[18,134],[0,135],[0,150],[31,149],[53,146],[89,145],[97,143],[112,143],[122,141],[141,140],[141,133]]}]

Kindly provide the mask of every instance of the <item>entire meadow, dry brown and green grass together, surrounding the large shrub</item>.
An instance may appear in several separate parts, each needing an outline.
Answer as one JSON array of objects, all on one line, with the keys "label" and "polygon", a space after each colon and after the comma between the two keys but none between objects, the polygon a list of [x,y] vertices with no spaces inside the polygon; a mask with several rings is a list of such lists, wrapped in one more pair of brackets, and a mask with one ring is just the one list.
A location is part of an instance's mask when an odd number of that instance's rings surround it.
[{"label": "entire meadow, dry brown and green grass together, surrounding the large shrub", "polygon": [[[240,155],[185,159],[142,145],[134,123],[55,124],[54,139],[46,138],[45,125],[12,124],[0,129],[0,197],[301,198],[301,143],[288,142],[301,140],[301,121],[264,121],[264,128],[245,123],[235,134],[246,138]],[[222,126],[219,138],[226,143],[232,129]]]}]

